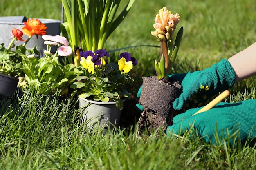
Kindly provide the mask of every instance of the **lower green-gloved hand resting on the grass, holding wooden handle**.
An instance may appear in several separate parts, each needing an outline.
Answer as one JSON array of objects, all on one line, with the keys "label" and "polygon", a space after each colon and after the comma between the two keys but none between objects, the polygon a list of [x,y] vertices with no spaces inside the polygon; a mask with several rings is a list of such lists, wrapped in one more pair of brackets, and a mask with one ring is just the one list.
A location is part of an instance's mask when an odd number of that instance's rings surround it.
[{"label": "lower green-gloved hand resting on the grass, holding wooden handle", "polygon": [[256,136],[256,99],[238,103],[219,103],[208,111],[192,116],[200,109],[189,109],[175,116],[173,125],[167,128],[167,135],[170,136],[171,133],[184,135],[184,131],[193,126],[198,135],[203,137],[207,143],[211,141],[213,144],[216,143],[214,135],[218,134],[220,139],[227,137],[226,129],[231,136],[240,128],[240,133],[236,135],[240,135],[242,142],[245,142],[248,137],[252,139]]}]

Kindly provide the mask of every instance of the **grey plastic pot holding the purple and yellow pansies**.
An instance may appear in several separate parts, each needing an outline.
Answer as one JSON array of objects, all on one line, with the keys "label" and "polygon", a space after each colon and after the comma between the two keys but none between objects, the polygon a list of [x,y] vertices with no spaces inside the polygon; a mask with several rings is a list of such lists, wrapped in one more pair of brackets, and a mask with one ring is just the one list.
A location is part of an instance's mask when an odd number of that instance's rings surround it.
[{"label": "grey plastic pot holding the purple and yellow pansies", "polygon": [[112,130],[114,126],[119,126],[121,110],[116,107],[116,102],[98,102],[79,97],[79,106],[83,113],[81,122],[86,122],[88,128],[100,125],[106,134],[108,128]]}]

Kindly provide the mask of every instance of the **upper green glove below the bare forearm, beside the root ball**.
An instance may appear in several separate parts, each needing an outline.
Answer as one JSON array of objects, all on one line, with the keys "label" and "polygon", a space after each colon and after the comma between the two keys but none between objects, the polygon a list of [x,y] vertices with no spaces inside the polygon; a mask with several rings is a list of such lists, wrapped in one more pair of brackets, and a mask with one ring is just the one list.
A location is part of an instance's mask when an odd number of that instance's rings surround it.
[{"label": "upper green glove below the bare forearm, beside the root ball", "polygon": [[204,106],[214,95],[231,88],[235,80],[234,69],[226,59],[203,71],[189,71],[182,80],[182,93],[173,102],[173,108]]}]

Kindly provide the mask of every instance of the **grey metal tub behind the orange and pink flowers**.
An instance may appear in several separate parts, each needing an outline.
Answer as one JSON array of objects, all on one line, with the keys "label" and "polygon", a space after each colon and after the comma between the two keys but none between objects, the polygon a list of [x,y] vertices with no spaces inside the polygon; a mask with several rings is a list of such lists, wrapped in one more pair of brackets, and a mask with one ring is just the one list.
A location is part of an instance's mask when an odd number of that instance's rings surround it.
[{"label": "grey metal tub behind the orange and pink flowers", "polygon": [[[36,19],[36,18],[34,18]],[[45,26],[47,26],[46,34],[47,35],[59,35],[61,33],[61,21],[53,20],[53,19],[45,19],[45,18],[37,18],[40,20]],[[7,48],[9,43],[11,42],[10,37],[12,36],[11,30],[13,28],[20,29],[24,27],[24,23],[27,21],[25,16],[7,16],[0,17],[0,43],[4,43],[4,46]],[[26,40],[27,36],[23,35],[23,38]],[[32,49],[34,46],[38,48],[41,55],[43,55],[43,51],[47,48],[47,46],[43,43],[43,38],[39,35],[38,38],[36,36],[32,36],[31,40],[27,43],[27,49]],[[24,41],[18,41],[17,45],[22,45]],[[16,44],[16,43],[15,43]],[[52,48],[52,52],[55,52],[57,47]]]}]

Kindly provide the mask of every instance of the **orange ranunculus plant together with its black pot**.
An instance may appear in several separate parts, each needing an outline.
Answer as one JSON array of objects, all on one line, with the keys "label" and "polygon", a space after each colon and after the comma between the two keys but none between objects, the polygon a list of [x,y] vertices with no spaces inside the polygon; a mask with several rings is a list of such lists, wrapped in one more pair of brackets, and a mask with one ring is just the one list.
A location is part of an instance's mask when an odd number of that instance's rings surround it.
[{"label": "orange ranunculus plant together with its black pot", "polygon": [[[40,54],[36,47],[26,49],[27,42],[29,42],[33,35],[44,35],[46,33],[45,29],[47,29],[38,19],[28,19],[24,24],[23,31],[16,28],[12,29],[12,40],[7,48],[5,48],[4,43],[0,46],[0,94],[8,97],[11,97],[15,92],[18,85],[18,76],[22,75],[22,72],[16,68],[16,64],[22,62],[22,55]],[[23,32],[28,36],[27,40],[23,39]],[[13,50],[15,41],[25,42],[22,45],[16,46],[16,49]]]}]

